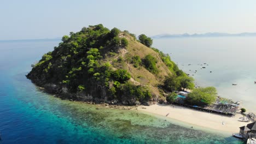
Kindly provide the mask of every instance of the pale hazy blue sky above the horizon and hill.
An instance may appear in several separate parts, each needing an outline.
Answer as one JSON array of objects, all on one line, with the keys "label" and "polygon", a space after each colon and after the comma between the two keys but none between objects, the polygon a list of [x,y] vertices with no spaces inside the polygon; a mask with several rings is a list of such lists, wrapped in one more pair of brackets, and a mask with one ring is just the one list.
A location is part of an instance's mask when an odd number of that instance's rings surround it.
[{"label": "pale hazy blue sky above the horizon and hill", "polygon": [[131,33],[256,32],[254,0],[1,0],[0,40],[61,38],[102,23]]}]

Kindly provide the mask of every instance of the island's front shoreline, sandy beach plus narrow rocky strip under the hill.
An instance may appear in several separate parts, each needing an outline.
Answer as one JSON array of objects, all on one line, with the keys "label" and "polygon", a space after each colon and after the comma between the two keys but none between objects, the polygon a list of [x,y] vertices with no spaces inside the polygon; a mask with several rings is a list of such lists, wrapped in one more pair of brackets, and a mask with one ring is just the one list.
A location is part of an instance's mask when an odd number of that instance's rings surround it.
[{"label": "island's front shoreline, sandy beach plus narrow rocky strip under the hill", "polygon": [[[45,92],[45,89],[39,87],[41,91]],[[47,92],[46,92],[47,93]],[[48,93],[49,94],[49,93]],[[51,94],[56,97],[56,94]],[[58,94],[59,95],[59,94]],[[57,97],[61,98],[61,97]],[[89,101],[76,101],[71,99],[62,99],[73,102],[79,102],[90,105],[97,105],[98,107],[105,107],[107,109],[120,109],[120,110],[135,110],[138,112],[152,115],[161,119],[167,119],[173,124],[187,127],[195,130],[208,131],[212,133],[225,134],[231,136],[233,133],[239,133],[239,127],[245,126],[250,122],[239,122],[238,118],[243,117],[241,113],[237,113],[234,117],[228,117],[219,115],[216,113],[202,112],[194,109],[189,109],[183,106],[154,104],[150,106],[138,105],[129,106],[122,104],[108,104],[108,103],[95,103]],[[100,110],[97,108],[97,110]],[[169,113],[169,114],[168,114]],[[168,116],[166,116],[168,114]]]}]

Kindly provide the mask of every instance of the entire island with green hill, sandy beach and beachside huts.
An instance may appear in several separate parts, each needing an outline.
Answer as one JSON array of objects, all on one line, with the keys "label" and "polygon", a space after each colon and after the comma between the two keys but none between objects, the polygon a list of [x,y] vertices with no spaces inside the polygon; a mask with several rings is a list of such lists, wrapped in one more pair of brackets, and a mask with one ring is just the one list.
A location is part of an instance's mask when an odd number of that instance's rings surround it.
[{"label": "entire island with green hill, sandy beach and beachside huts", "polygon": [[[137,38],[102,24],[84,27],[64,35],[59,46],[32,64],[26,76],[61,99],[110,109],[135,106],[194,129],[199,126],[231,135],[249,123],[243,117],[246,110],[240,109],[241,101],[219,97],[214,87],[195,88],[194,79],[152,44],[145,34]],[[241,114],[236,115],[239,110]],[[249,117],[255,120],[253,113]],[[247,135],[242,131],[235,136]]]}]

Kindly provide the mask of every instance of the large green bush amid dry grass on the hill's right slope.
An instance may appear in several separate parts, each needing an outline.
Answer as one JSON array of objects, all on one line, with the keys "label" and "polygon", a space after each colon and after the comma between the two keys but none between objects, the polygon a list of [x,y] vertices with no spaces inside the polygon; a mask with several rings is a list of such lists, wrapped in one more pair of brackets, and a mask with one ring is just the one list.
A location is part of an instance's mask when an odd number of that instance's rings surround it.
[{"label": "large green bush amid dry grass on the hill's right slope", "polygon": [[144,64],[145,68],[153,74],[158,74],[159,73],[159,70],[156,67],[157,62],[158,62],[158,60],[155,57],[153,57],[152,55],[147,55],[143,59],[143,64]]}]

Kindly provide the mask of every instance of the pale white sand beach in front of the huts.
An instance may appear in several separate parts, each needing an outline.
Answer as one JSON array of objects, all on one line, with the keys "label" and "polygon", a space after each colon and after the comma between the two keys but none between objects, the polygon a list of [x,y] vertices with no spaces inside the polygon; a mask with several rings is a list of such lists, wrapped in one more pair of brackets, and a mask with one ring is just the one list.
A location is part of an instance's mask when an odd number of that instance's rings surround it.
[{"label": "pale white sand beach in front of the huts", "polygon": [[[142,109],[142,107],[146,107],[146,109]],[[139,106],[138,110],[154,113],[161,116],[166,116],[167,113],[169,113],[167,116],[168,118],[176,119],[188,124],[198,125],[204,128],[210,128],[212,130],[225,131],[230,134],[239,133],[239,127],[250,123],[237,121],[238,118],[242,117],[241,113],[237,113],[235,117],[226,117],[213,113],[196,111],[176,105],[174,105],[174,108],[170,105],[159,104]]]}]

